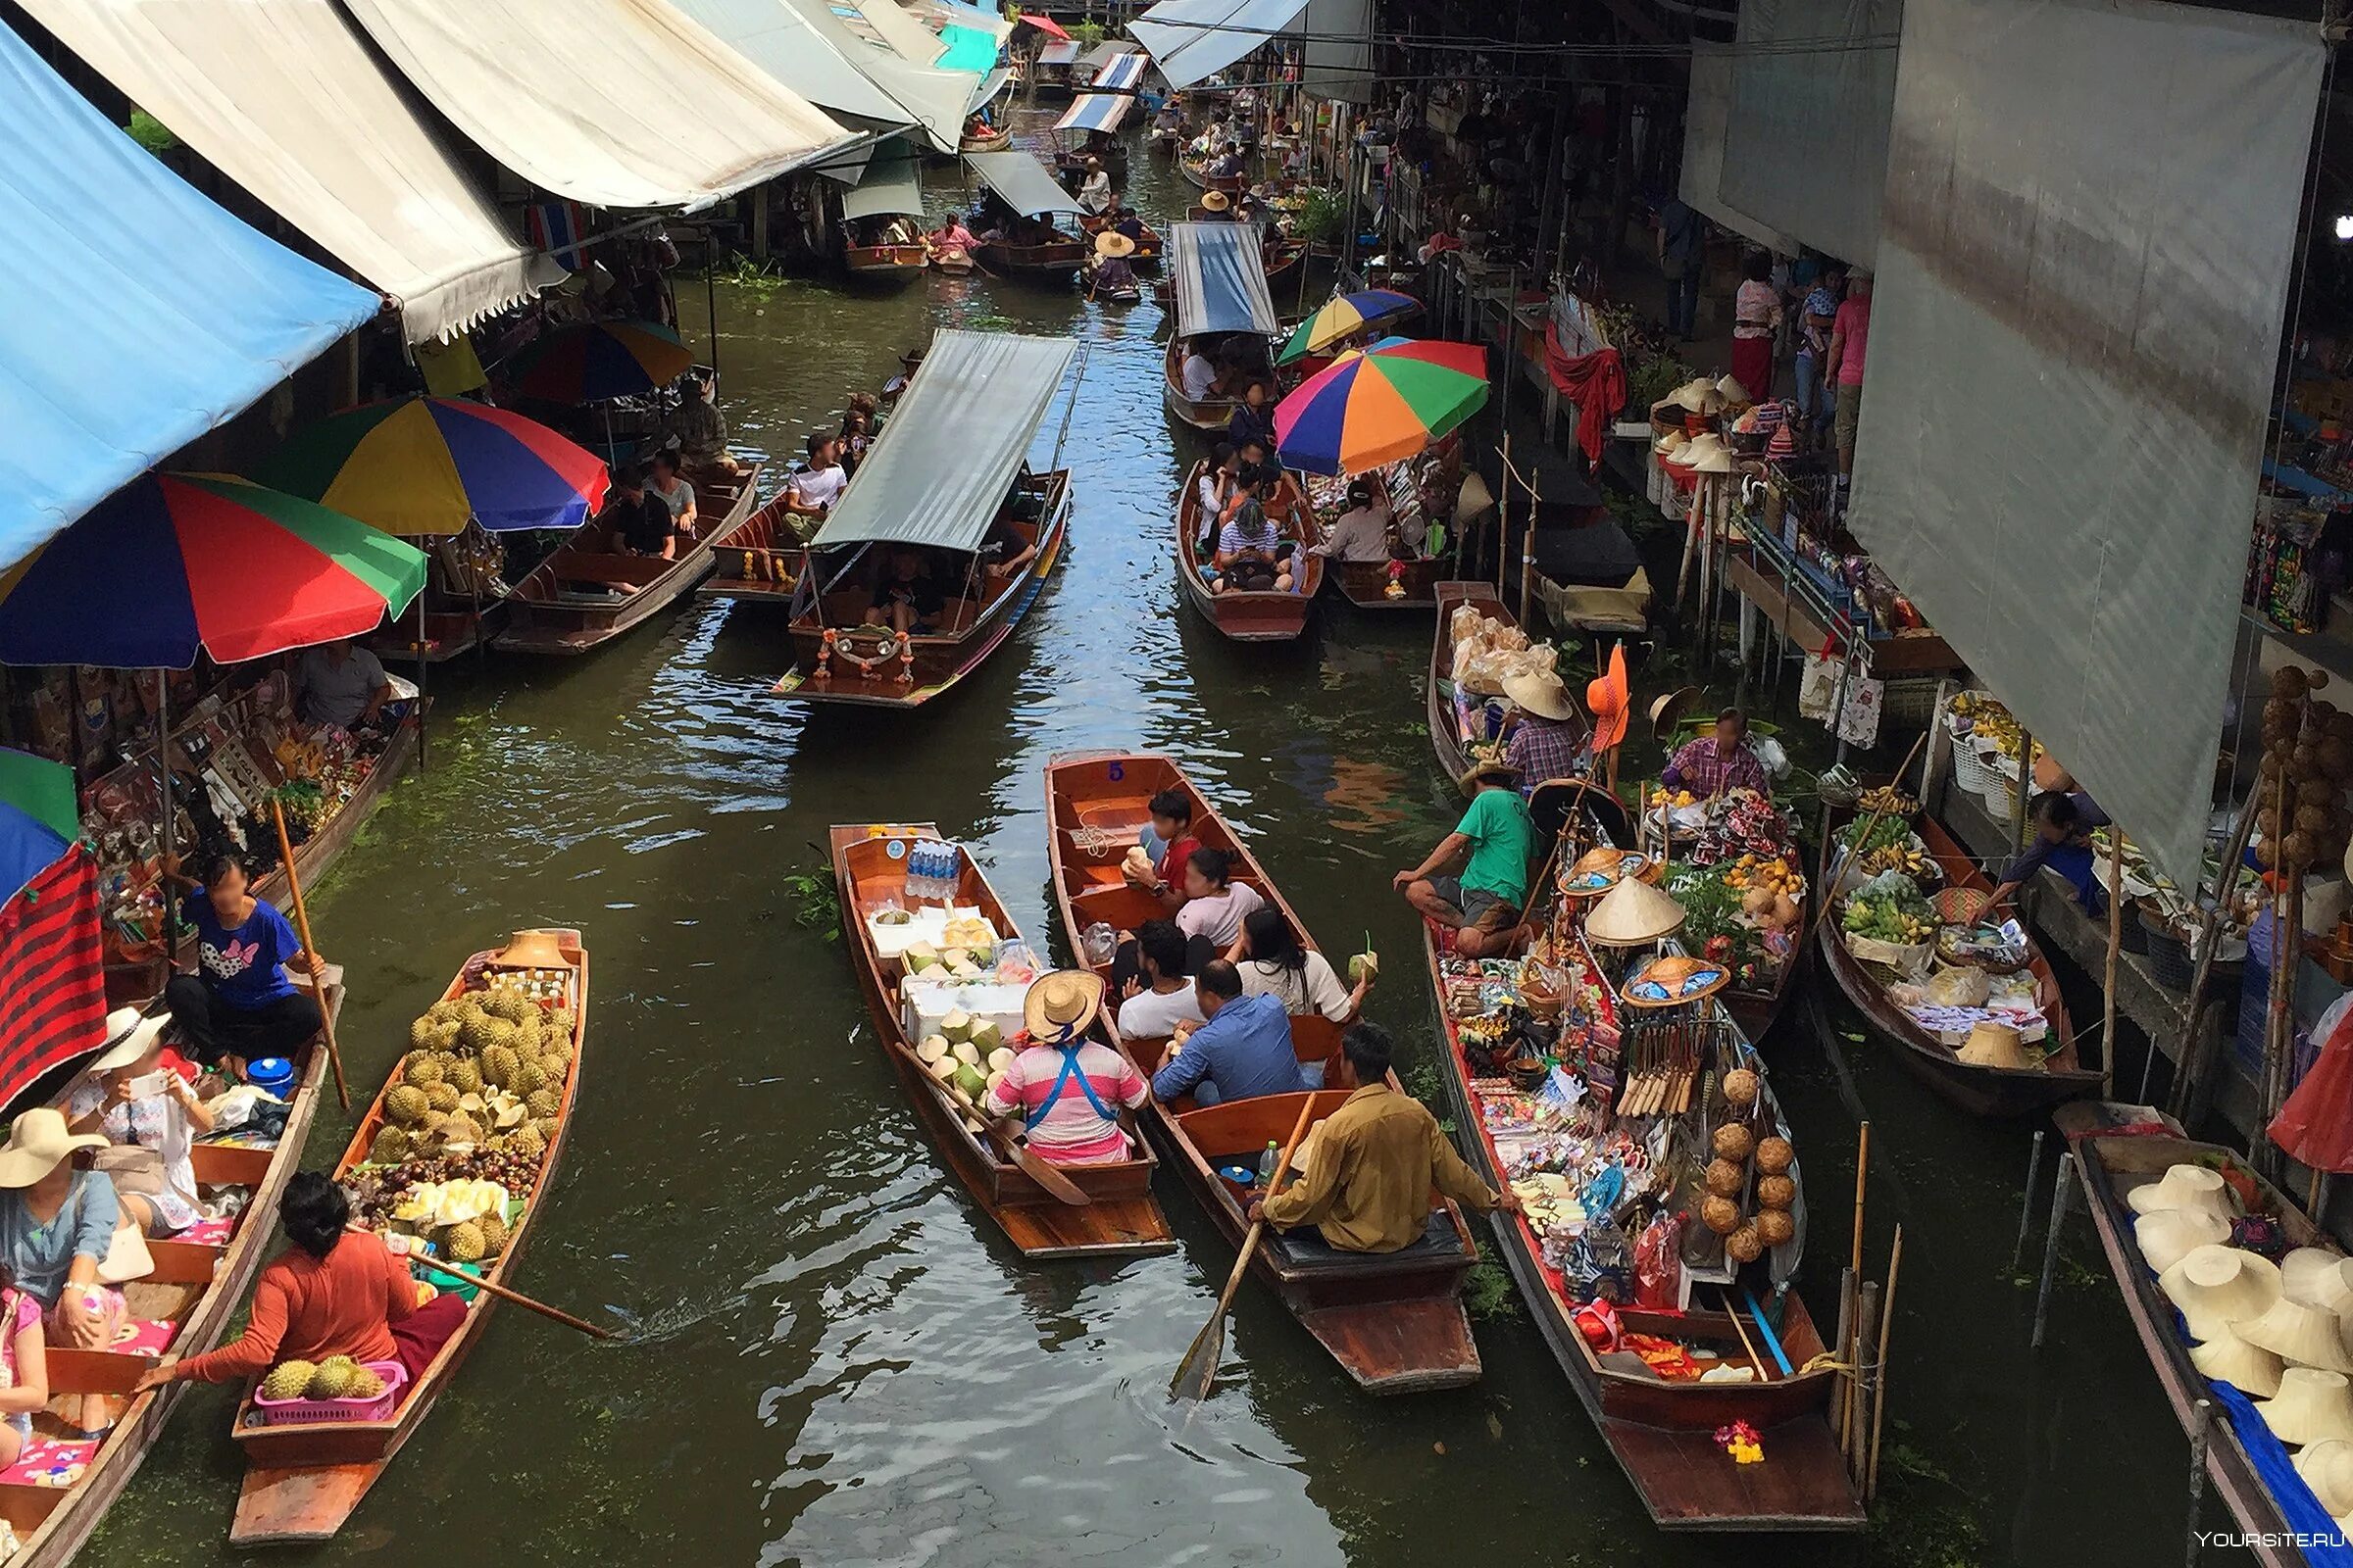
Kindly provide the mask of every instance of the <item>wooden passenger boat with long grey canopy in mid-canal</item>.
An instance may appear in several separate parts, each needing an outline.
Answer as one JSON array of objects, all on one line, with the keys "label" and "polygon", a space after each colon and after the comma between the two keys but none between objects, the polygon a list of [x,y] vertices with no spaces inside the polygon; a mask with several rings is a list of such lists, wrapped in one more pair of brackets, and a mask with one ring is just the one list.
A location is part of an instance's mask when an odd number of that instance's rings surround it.
[{"label": "wooden passenger boat with long grey canopy in mid-canal", "polygon": [[[918,708],[995,654],[1045,590],[1071,527],[1068,470],[1026,454],[1075,346],[1009,331],[941,331],[826,527],[793,592],[795,670],[779,696]],[[1000,512],[1035,550],[998,576],[981,559]],[[955,562],[941,611],[911,637],[875,623],[873,590],[899,548]]]}]

